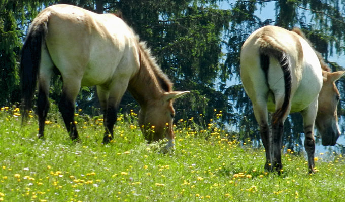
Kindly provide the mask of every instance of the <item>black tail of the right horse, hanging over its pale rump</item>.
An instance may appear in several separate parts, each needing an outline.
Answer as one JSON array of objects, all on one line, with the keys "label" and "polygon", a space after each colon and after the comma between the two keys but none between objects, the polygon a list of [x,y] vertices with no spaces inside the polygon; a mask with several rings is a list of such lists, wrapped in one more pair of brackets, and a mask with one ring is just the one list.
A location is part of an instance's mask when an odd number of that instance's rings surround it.
[{"label": "black tail of the right horse, hanging over its pale rump", "polygon": [[[279,61],[281,68],[283,70],[284,75],[284,102],[280,109],[278,109],[272,117],[274,123],[277,123],[279,119],[281,119],[284,114],[287,112],[290,102],[290,95],[291,95],[291,61],[290,56],[286,54],[282,50],[277,50],[269,47],[262,47],[260,49],[260,60],[261,60],[261,68],[265,72],[266,80],[268,79],[268,69],[269,69],[269,56],[274,57]],[[268,81],[267,81],[268,83]]]}]

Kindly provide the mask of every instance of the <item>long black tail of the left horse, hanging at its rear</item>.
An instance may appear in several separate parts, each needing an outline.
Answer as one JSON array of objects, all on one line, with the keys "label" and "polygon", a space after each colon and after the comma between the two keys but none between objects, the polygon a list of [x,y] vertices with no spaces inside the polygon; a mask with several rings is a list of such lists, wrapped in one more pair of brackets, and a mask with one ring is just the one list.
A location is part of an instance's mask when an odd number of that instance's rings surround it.
[{"label": "long black tail of the left horse, hanging at its rear", "polygon": [[20,61],[20,85],[22,95],[22,121],[32,108],[32,98],[40,69],[42,43],[47,33],[46,23],[31,25],[22,48]]}]

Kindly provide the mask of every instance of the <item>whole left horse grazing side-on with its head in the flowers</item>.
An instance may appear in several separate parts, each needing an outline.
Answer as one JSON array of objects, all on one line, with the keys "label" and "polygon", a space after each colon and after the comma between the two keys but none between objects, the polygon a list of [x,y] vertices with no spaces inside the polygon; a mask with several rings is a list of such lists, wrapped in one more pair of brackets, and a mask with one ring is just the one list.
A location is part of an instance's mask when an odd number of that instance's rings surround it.
[{"label": "whole left horse grazing side-on with its head in the flowers", "polygon": [[[172,101],[189,91],[172,91],[172,83],[161,71],[145,43],[113,14],[59,4],[44,9],[33,20],[21,56],[23,117],[31,108],[38,80],[37,113],[39,137],[43,137],[49,109],[48,92],[53,70],[63,81],[59,110],[72,140],[78,140],[74,121],[75,100],[81,86],[97,86],[106,133],[113,138],[120,100],[128,88],[139,103],[138,121],[149,141],[168,139],[175,147]],[[154,126],[154,127],[152,127]],[[148,132],[153,128],[153,132]]]}]

